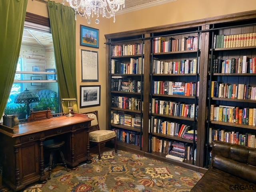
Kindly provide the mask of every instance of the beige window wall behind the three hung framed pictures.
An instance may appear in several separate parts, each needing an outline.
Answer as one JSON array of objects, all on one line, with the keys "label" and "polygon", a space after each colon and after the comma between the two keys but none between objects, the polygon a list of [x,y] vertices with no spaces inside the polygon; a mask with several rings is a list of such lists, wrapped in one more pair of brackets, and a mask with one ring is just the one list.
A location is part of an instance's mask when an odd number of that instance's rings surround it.
[{"label": "beige window wall behind the three hung framed pictures", "polygon": [[[62,0],[55,0],[55,2],[62,3]],[[67,5],[67,3],[66,3]],[[38,14],[48,17],[46,4],[38,1],[28,0],[27,12]],[[100,30],[99,49],[80,46],[80,24],[97,28]],[[100,18],[100,24],[95,24],[93,21],[90,25],[87,24],[86,19],[80,16],[76,20],[76,82],[77,82],[77,94],[78,94],[78,106],[80,102],[80,85],[101,85],[101,99],[100,106],[79,109],[79,112],[90,112],[98,110],[100,128],[105,129],[106,125],[106,42],[104,34],[110,33],[110,20],[106,18]],[[99,56],[99,82],[81,82],[81,49],[98,51]]]}]

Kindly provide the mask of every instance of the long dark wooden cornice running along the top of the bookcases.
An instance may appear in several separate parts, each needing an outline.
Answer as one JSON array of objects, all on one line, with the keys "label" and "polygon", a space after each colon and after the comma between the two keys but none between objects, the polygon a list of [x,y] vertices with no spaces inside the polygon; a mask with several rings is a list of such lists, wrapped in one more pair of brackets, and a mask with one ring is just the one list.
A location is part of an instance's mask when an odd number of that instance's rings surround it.
[{"label": "long dark wooden cornice running along the top of the bookcases", "polygon": [[165,32],[165,31],[171,31],[176,29],[192,28],[192,27],[206,25],[206,24],[223,23],[223,22],[238,21],[238,20],[248,20],[252,18],[256,18],[256,10],[239,12],[234,14],[227,14],[227,15],[216,16],[216,17],[209,17],[209,18],[198,19],[193,21],[180,22],[175,24],[168,24],[168,25],[155,26],[150,28],[143,28],[143,29],[137,29],[137,30],[106,34],[105,38],[109,39],[109,38],[136,36],[139,34]]}]

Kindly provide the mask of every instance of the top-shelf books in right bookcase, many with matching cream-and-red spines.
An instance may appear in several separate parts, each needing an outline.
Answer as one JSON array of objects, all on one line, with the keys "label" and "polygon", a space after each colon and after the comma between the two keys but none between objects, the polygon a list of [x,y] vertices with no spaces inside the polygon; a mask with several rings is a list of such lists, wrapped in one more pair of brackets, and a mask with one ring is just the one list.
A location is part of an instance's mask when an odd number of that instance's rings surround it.
[{"label": "top-shelf books in right bookcase, many with matching cream-and-red spines", "polygon": [[256,33],[214,35],[214,48],[256,46]]}]

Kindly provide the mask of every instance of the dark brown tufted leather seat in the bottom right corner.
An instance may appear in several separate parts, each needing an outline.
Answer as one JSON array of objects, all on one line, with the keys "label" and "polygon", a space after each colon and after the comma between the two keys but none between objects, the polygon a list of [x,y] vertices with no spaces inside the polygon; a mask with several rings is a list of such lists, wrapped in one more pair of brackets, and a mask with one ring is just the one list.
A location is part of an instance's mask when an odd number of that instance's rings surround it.
[{"label": "dark brown tufted leather seat in the bottom right corner", "polygon": [[255,148],[214,141],[212,155],[212,165],[191,192],[256,191]]}]

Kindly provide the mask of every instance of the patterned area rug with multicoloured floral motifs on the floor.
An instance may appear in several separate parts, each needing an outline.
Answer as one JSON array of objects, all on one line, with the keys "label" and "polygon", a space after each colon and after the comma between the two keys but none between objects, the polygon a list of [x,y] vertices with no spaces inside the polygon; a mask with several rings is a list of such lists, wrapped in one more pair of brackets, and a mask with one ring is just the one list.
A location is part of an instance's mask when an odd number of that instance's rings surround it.
[{"label": "patterned area rug with multicoloured floral motifs on the floor", "polygon": [[46,184],[29,186],[24,192],[189,192],[202,174],[118,150],[106,151],[102,160],[77,170],[52,173]]}]

